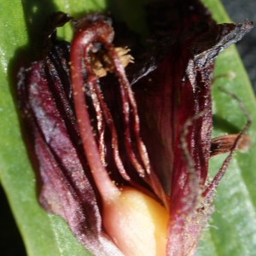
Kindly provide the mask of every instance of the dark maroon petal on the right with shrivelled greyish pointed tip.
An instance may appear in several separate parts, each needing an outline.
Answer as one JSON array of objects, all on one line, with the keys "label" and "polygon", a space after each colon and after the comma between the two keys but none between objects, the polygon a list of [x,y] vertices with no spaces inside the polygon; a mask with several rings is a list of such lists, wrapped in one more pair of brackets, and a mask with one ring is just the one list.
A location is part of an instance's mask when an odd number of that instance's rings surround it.
[{"label": "dark maroon petal on the right with shrivelled greyish pointed tip", "polygon": [[200,197],[211,148],[213,61],[251,28],[245,21],[181,34],[164,61],[134,84],[149,159],[171,195],[168,255],[193,255],[211,215],[212,199]]}]

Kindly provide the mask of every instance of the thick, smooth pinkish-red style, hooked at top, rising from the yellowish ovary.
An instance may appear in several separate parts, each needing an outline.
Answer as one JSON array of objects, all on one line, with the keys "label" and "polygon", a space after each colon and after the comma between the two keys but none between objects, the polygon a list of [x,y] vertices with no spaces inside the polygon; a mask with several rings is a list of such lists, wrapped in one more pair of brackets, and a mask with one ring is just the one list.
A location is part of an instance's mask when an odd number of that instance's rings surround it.
[{"label": "thick, smooth pinkish-red style, hooked at top, rising from the yellowish ovary", "polygon": [[[96,140],[91,129],[90,116],[87,109],[84,108],[86,102],[83,90],[82,57],[84,48],[88,47],[91,43],[96,41],[101,43],[105,43],[106,41],[111,42],[112,39],[113,29],[111,26],[108,26],[108,23],[97,21],[96,23],[85,25],[84,30],[79,30],[75,34],[70,54],[74,106],[77,119],[81,120],[79,122],[79,131],[84,145],[84,153],[103,201],[112,201],[113,198],[119,195],[119,189],[112,183],[107,170],[102,166],[101,154],[99,153],[99,148],[96,145]],[[89,83],[92,83],[93,80],[94,78],[88,73]],[[98,106],[98,102],[95,103]]]}]

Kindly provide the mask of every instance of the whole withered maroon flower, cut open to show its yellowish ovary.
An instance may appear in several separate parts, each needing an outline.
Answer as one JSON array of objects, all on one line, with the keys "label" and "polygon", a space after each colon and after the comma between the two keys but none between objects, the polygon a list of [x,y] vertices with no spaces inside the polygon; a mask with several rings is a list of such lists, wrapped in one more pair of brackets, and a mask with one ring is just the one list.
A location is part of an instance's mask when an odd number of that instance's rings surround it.
[{"label": "whole withered maroon flower, cut open to show its yellowish ovary", "polygon": [[[49,54],[19,74],[43,180],[39,201],[95,255],[195,255],[249,125],[211,139],[214,59],[252,24],[216,25],[198,1],[159,1],[148,17],[154,48],[145,53],[124,27],[113,39],[104,15],[57,13],[44,42]],[[71,45],[55,39],[69,20]],[[210,157],[226,152],[208,183]]]}]

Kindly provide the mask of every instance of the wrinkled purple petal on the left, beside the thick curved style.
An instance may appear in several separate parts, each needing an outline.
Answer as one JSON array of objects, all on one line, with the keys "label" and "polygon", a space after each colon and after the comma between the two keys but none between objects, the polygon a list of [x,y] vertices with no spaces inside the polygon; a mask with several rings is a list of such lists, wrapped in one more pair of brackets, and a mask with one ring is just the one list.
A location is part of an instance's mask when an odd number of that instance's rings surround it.
[{"label": "wrinkled purple petal on the left, beside the thick curved style", "polygon": [[78,146],[68,54],[69,44],[55,44],[45,61],[20,72],[20,105],[32,125],[43,180],[40,203],[61,215],[91,253],[122,255],[102,232],[98,195]]}]

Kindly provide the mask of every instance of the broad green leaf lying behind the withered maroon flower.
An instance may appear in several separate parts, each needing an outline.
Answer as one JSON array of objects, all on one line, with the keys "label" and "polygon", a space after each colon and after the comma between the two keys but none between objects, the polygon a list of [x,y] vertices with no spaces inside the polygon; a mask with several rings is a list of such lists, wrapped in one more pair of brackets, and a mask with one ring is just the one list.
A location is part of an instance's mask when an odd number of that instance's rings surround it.
[{"label": "broad green leaf lying behind the withered maroon flower", "polygon": [[[58,216],[48,214],[38,205],[38,186],[32,162],[28,158],[24,137],[20,131],[20,113],[16,100],[17,67],[36,60],[42,40],[42,31],[48,16],[57,10],[80,16],[92,11],[111,9],[119,20],[127,20],[129,26],[146,37],[147,30],[143,22],[143,5],[149,0],[2,0],[0,16],[0,178],[9,198],[9,204],[15,214],[16,222],[30,256],[45,255],[90,255],[79,244]],[[204,0],[212,10],[214,19],[230,22],[224,9],[217,0]],[[64,27],[59,32],[62,38],[71,38],[70,28]],[[235,78],[230,78],[230,73]],[[241,65],[235,47],[226,49],[218,57],[215,76],[226,75],[217,79],[213,86],[214,130],[218,136],[227,132],[241,131],[246,118],[241,113],[239,104],[230,96],[218,90],[218,86],[235,93],[244,103],[252,119],[256,102]],[[229,171],[218,188],[216,211],[207,228],[198,255],[229,256],[253,255],[256,249],[256,124],[253,123],[248,134],[252,137],[252,148],[246,153],[236,153]],[[26,142],[26,143],[25,143]],[[30,145],[32,147],[32,145]],[[211,161],[212,176],[218,171],[224,156]]]}]

